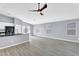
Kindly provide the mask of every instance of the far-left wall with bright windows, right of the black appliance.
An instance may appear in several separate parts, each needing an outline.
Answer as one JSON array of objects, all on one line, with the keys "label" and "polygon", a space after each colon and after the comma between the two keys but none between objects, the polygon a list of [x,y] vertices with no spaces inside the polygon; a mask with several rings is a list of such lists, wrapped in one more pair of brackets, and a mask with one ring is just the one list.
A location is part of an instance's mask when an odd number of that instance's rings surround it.
[{"label": "far-left wall with bright windows, right of the black appliance", "polygon": [[31,34],[31,24],[25,23],[18,18],[14,19],[15,34]]}]

